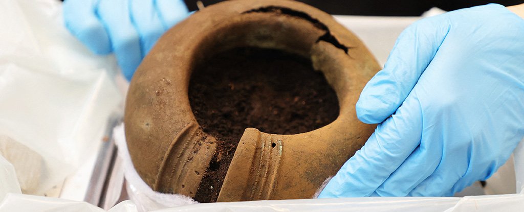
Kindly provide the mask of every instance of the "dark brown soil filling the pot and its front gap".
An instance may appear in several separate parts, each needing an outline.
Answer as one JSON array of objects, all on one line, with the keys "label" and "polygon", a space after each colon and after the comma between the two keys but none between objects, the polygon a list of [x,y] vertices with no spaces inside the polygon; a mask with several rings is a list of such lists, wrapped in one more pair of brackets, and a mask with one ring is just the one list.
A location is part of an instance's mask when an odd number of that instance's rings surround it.
[{"label": "dark brown soil filling the pot and its front gap", "polygon": [[237,48],[193,71],[189,101],[217,151],[195,200],[216,202],[238,141],[248,127],[275,134],[318,129],[339,115],[335,92],[311,61],[279,50]]}]

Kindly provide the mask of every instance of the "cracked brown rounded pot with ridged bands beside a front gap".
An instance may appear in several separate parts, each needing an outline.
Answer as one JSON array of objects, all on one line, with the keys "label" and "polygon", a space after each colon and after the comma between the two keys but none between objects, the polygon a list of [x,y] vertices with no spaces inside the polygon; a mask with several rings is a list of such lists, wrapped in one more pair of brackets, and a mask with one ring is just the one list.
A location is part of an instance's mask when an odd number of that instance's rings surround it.
[{"label": "cracked brown rounded pot with ridged bands beside a front gap", "polygon": [[[282,0],[227,1],[206,7],[166,32],[131,81],[125,132],[141,178],[155,191],[195,197],[217,150],[196,121],[191,73],[213,54],[275,49],[311,60],[336,92],[339,116],[296,135],[247,128],[218,202],[310,198],[373,132],[355,103],[380,66],[350,31],[311,6]],[[227,73],[224,73],[227,74]]]}]

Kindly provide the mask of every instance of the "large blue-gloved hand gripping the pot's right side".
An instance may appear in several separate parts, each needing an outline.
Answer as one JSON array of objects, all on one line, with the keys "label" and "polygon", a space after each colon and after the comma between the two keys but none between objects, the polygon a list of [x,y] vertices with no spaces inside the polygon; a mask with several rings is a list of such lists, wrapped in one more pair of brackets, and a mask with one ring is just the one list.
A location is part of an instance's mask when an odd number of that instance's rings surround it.
[{"label": "large blue-gloved hand gripping the pot's right side", "polygon": [[356,112],[380,124],[319,197],[452,196],[486,180],[524,137],[524,19],[489,4],[414,23]]}]

